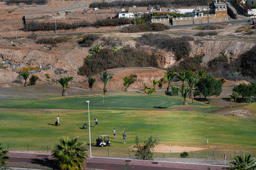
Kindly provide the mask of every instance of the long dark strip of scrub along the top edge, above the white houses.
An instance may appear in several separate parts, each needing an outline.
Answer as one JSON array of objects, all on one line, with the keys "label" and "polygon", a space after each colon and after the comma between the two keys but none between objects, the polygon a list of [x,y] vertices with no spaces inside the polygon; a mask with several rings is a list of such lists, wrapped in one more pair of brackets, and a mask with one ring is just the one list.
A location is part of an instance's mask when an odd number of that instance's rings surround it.
[{"label": "long dark strip of scrub along the top edge, above the white houses", "polygon": [[170,1],[170,0],[142,0],[142,1],[111,1],[109,3],[95,2],[90,4],[90,8],[113,8],[113,7],[128,7],[128,6],[156,6],[159,5],[161,7],[170,7],[170,6],[202,6],[207,5],[207,2],[204,0],[183,0],[183,1]]}]

